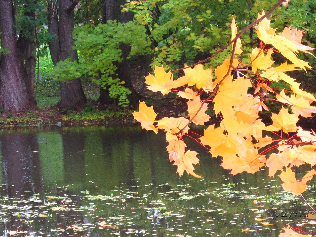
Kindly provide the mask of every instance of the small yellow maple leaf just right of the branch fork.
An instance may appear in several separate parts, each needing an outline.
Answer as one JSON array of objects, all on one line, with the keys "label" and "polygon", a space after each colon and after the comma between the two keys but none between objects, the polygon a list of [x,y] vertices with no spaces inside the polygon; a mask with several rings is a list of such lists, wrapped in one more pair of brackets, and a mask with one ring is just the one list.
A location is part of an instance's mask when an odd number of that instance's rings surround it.
[{"label": "small yellow maple leaf just right of the branch fork", "polygon": [[255,72],[257,69],[265,70],[271,67],[271,65],[275,62],[270,59],[272,53],[272,49],[269,49],[266,55],[264,55],[263,49],[259,49],[257,47],[252,49],[252,53],[250,54],[252,71]]}]

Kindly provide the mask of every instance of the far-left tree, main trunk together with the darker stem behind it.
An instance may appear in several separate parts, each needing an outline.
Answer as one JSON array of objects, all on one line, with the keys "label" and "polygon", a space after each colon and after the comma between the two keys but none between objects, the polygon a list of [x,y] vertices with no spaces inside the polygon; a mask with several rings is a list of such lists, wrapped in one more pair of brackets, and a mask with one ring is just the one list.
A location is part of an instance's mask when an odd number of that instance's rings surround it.
[{"label": "far-left tree, main trunk together with the darker stem behind it", "polygon": [[35,1],[29,0],[16,7],[24,10],[22,19],[28,23],[18,31],[18,37],[13,3],[0,1],[1,49],[7,50],[0,56],[0,107],[5,114],[36,107],[24,64],[34,28]]}]

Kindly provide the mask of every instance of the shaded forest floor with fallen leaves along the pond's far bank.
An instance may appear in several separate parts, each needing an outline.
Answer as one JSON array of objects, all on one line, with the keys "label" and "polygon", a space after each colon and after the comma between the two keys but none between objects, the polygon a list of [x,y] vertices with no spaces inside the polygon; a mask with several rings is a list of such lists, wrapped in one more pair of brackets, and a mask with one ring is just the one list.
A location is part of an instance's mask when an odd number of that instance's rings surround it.
[{"label": "shaded forest floor with fallen leaves along the pond's far bank", "polygon": [[[37,107],[36,111],[28,111],[25,113],[9,114],[7,117],[0,117],[0,128],[14,127],[14,126],[42,126],[42,125],[132,125],[138,124],[133,119],[132,112],[137,111],[138,108],[131,106],[126,108],[116,108],[117,112],[114,112],[113,105],[101,105],[95,101],[99,97],[99,86],[94,82],[91,82],[88,78],[82,78],[82,85],[85,94],[88,98],[86,107],[81,112],[76,111],[61,111],[57,104],[60,100],[59,84],[58,81],[53,79],[47,79],[45,72],[51,70],[51,59],[44,58],[41,60],[40,67],[40,80],[38,86],[38,93],[36,96]],[[134,83],[134,87],[137,92],[141,92],[144,82],[145,65],[142,60],[136,60],[131,65],[131,76]],[[307,88],[308,92],[316,95],[316,78],[313,76],[301,75],[298,82],[302,83],[302,88]],[[286,85],[278,83],[276,87],[284,88]],[[148,105],[153,105],[155,112],[158,114],[157,119],[163,117],[180,117],[187,115],[186,99],[182,99],[176,96],[176,93],[169,93],[167,96],[162,96],[160,92],[152,93],[148,89],[142,93],[143,101]],[[271,112],[277,113],[281,108],[281,105],[274,103],[273,101],[267,106],[271,109]],[[216,118],[214,111],[209,108],[208,113],[214,122],[219,122],[220,119]],[[261,115],[264,119],[270,116],[270,112],[265,112]],[[265,121],[269,123],[269,121]],[[316,117],[303,119],[302,125],[309,127],[316,126]],[[301,125],[301,126],[302,126]]]}]

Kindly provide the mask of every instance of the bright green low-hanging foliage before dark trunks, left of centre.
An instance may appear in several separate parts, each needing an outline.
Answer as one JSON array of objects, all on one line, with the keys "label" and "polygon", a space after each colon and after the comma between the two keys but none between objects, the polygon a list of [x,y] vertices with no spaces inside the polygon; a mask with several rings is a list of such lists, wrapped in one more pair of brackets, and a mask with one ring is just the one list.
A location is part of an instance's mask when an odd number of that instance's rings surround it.
[{"label": "bright green low-hanging foliage before dark trunks, left of centre", "polygon": [[143,43],[146,37],[144,28],[133,22],[108,21],[107,24],[76,27],[73,36],[74,49],[82,56],[80,63],[59,62],[48,75],[63,82],[87,75],[97,85],[107,88],[111,98],[118,98],[119,106],[126,106],[131,91],[116,75],[116,65],[123,60],[119,47],[122,43],[131,46],[130,55],[146,53],[148,45]]}]

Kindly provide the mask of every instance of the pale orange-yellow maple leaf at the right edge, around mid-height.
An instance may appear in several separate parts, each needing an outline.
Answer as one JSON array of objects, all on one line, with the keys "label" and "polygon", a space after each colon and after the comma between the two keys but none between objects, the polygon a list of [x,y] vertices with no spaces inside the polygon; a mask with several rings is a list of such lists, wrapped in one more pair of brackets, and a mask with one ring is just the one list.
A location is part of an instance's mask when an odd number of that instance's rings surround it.
[{"label": "pale orange-yellow maple leaf at the right edge, around mid-height", "polygon": [[312,117],[312,113],[316,113],[316,107],[310,105],[310,100],[306,100],[301,95],[291,94],[291,97],[287,96],[282,90],[280,94],[276,95],[277,100],[282,103],[292,106],[292,112],[297,115],[301,115],[305,118]]}]

